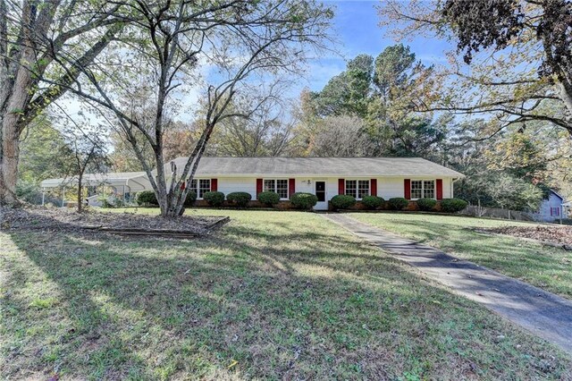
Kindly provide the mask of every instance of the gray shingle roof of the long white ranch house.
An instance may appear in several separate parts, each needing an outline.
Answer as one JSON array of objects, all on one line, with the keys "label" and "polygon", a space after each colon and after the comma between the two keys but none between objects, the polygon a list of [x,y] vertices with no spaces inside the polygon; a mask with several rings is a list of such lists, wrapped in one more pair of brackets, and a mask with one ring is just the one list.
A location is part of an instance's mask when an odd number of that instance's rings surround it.
[{"label": "gray shingle roof of the long white ranch house", "polygon": [[[179,173],[186,161],[174,160]],[[168,174],[170,165],[165,167]],[[420,157],[202,157],[197,174],[464,177]]]}]

